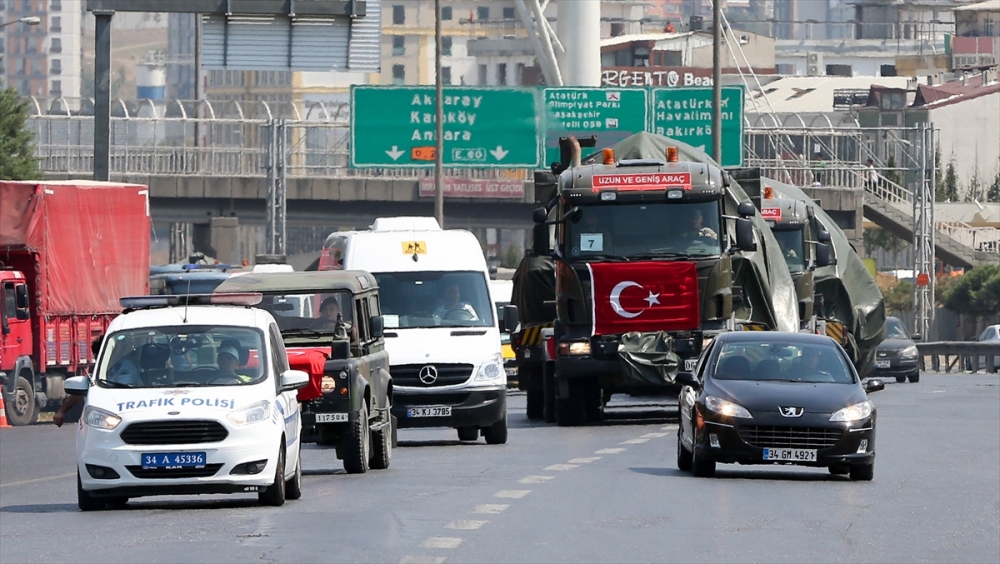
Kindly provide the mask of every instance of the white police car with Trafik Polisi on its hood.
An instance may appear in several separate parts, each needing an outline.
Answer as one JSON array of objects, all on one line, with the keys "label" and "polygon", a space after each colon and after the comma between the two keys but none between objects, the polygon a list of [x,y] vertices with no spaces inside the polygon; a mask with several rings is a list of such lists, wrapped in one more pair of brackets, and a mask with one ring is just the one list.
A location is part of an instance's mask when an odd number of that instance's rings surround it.
[{"label": "white police car with Trafik Polisi on its hood", "polygon": [[281,334],[260,294],[122,298],[85,395],[77,498],[92,511],[132,497],[301,495],[301,419]]}]

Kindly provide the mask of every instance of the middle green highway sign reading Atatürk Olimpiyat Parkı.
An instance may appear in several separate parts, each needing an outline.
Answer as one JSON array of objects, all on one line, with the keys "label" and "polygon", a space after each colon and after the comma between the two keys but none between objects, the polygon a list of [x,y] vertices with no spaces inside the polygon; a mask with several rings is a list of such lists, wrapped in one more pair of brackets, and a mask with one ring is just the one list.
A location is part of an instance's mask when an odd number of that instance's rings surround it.
[{"label": "middle green highway sign reading Atat\u00fcrk Olimpiyat Park\u0131", "polygon": [[[545,160],[559,161],[559,138],[596,136],[597,147],[610,147],[646,130],[649,109],[644,88],[544,88]],[[586,150],[585,150],[586,151]]]}]

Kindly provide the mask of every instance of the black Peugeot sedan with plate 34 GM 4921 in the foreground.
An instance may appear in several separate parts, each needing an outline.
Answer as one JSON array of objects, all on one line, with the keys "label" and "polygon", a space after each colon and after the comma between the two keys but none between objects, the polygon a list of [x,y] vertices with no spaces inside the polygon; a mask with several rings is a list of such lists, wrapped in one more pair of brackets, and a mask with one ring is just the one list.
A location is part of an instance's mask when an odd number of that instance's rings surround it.
[{"label": "black Peugeot sedan with plate 34 GM 4921 in the foreground", "polygon": [[716,463],[796,464],[871,480],[875,406],[844,350],[804,333],[723,333],[697,375],[678,374],[677,467],[712,476]]}]

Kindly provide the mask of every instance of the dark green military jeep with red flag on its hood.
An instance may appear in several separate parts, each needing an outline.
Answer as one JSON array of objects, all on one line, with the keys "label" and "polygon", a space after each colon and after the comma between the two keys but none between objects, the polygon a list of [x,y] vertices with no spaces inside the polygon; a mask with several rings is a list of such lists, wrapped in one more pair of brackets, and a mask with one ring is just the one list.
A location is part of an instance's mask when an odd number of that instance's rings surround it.
[{"label": "dark green military jeep with red flag on its hood", "polygon": [[302,440],[334,446],[351,474],[385,469],[396,442],[389,353],[375,277],[360,270],[237,274],[217,293],[257,292],[274,315],[299,390]]}]

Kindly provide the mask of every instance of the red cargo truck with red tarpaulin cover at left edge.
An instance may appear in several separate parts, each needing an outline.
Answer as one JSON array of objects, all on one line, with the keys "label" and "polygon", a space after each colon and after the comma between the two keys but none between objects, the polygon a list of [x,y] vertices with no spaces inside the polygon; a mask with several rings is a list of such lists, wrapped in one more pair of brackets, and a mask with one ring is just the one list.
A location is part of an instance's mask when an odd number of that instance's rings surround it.
[{"label": "red cargo truck with red tarpaulin cover at left edge", "polygon": [[0,383],[28,425],[63,380],[94,362],[91,341],[149,293],[149,190],[110,182],[0,181]]}]

